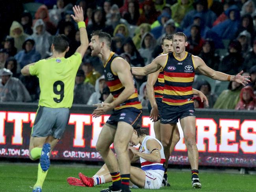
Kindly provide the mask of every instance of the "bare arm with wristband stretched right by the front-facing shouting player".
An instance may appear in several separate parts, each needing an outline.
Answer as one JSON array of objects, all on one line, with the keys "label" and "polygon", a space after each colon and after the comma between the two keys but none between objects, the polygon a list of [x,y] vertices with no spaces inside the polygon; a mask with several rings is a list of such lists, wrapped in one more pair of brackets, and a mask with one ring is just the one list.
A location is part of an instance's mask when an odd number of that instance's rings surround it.
[{"label": "bare arm with wristband stretched right by the front-facing shouting player", "polygon": [[243,71],[239,72],[236,76],[228,75],[219,71],[215,71],[208,67],[204,61],[197,56],[192,56],[195,68],[203,75],[208,76],[212,79],[219,81],[236,81],[237,83],[242,84],[243,86],[247,85],[250,82],[250,76],[241,76]]}]

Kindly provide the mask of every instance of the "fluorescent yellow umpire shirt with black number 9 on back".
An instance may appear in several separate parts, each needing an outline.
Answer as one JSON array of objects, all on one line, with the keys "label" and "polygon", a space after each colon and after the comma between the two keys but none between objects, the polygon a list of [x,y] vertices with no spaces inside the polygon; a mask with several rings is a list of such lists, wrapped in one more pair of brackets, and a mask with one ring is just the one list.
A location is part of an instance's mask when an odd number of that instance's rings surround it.
[{"label": "fluorescent yellow umpire shirt with black number 9 on back", "polygon": [[50,108],[70,108],[73,102],[77,70],[82,63],[80,53],[65,59],[51,58],[37,61],[29,72],[39,78],[39,106]]}]

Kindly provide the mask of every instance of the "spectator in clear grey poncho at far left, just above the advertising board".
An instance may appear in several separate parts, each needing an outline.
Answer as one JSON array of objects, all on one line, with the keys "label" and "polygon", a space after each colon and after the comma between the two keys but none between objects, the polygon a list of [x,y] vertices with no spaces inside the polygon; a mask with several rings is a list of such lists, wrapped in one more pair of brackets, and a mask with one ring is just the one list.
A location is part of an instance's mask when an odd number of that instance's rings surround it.
[{"label": "spectator in clear grey poncho at far left, just above the advertising board", "polygon": [[29,102],[30,94],[26,87],[6,68],[0,70],[0,102]]}]

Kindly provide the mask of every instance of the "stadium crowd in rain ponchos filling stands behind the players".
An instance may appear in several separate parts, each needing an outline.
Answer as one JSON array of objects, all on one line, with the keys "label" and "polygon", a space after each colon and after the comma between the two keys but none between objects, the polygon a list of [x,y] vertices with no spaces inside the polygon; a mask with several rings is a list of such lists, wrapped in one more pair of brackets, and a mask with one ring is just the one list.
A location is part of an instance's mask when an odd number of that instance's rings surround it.
[{"label": "stadium crowd in rain ponchos filling stands behind the players", "polygon": [[[23,3],[23,4],[22,4]],[[15,4],[16,6],[13,6]],[[51,55],[54,35],[69,38],[69,52],[80,45],[80,32],[70,17],[72,6],[83,7],[90,34],[112,36],[111,48],[131,66],[148,65],[161,52],[165,35],[183,31],[186,50],[206,65],[230,75],[243,70],[251,82],[221,82],[196,74],[193,88],[202,91],[210,108],[256,110],[256,7],[253,0],[10,0],[0,8],[0,102],[38,102],[39,81],[22,76],[25,65]],[[37,10],[35,10],[35,8]],[[109,95],[98,57],[88,48],[77,72],[74,103],[96,104]],[[147,106],[144,76],[135,76],[139,99]],[[196,108],[206,107],[194,98]]]}]

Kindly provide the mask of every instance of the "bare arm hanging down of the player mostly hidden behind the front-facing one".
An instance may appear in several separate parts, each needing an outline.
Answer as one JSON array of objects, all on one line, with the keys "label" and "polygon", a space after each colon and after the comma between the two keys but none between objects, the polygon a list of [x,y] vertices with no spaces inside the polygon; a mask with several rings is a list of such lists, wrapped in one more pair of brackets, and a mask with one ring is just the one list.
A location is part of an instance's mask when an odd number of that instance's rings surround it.
[{"label": "bare arm hanging down of the player mostly hidden behind the front-facing one", "polygon": [[156,104],[156,98],[154,94],[154,85],[156,83],[156,80],[159,76],[159,73],[161,71],[161,68],[148,75],[148,80],[147,80],[147,94],[148,94],[148,100],[150,102],[150,105],[152,106],[152,109],[150,111],[150,120],[153,120],[153,122],[156,122],[158,119],[158,107]]}]

